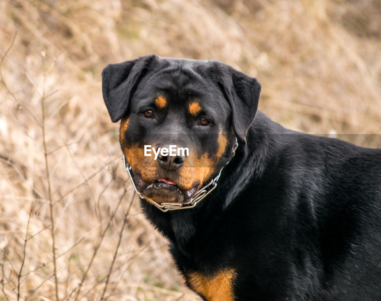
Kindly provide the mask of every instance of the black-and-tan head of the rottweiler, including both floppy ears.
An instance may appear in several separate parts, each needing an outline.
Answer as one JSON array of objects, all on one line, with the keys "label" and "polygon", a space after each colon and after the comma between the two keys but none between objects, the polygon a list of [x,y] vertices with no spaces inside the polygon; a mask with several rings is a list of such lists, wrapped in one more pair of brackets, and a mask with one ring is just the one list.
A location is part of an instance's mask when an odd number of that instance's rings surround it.
[{"label": "black-and-tan head of the rottweiler, including both floppy ears", "polygon": [[[136,188],[159,204],[187,202],[218,174],[235,137],[245,140],[260,90],[255,78],[218,61],[149,55],[102,72],[104,102],[111,120],[121,120]],[[172,156],[163,151],[170,145]],[[152,148],[161,150],[156,159]]]}]

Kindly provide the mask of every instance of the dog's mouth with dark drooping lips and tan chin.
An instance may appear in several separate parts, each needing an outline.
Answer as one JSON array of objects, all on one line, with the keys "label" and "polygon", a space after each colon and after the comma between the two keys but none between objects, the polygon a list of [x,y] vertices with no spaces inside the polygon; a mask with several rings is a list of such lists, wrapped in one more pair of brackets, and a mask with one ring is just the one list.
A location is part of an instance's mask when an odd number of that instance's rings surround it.
[{"label": "dog's mouth with dark drooping lips and tan chin", "polygon": [[134,170],[134,180],[136,188],[142,196],[158,204],[189,202],[200,185],[200,183],[194,183],[191,188],[184,190],[170,178],[159,178],[154,182],[145,182],[137,170]]}]

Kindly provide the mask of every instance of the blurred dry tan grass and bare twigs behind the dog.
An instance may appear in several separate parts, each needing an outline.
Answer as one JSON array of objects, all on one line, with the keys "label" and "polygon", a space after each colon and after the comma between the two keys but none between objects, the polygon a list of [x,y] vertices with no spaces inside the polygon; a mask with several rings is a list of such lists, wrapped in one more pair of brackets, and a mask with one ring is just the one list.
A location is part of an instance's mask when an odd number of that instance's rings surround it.
[{"label": "blurred dry tan grass and bare twigs behind the dog", "polygon": [[381,147],[380,0],[2,0],[1,300],[200,300],[102,99],[106,64],[149,53],[223,61],[283,126]]}]

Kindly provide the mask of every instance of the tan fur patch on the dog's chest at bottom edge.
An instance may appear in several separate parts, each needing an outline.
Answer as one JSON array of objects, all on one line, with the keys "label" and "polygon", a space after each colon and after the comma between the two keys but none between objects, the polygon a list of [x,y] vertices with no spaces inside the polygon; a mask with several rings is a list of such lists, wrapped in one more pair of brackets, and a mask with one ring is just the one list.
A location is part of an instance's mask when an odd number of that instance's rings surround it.
[{"label": "tan fur patch on the dog's chest at bottom edge", "polygon": [[233,283],[237,273],[233,269],[222,269],[214,276],[205,276],[200,272],[186,275],[187,283],[208,301],[233,301]]}]

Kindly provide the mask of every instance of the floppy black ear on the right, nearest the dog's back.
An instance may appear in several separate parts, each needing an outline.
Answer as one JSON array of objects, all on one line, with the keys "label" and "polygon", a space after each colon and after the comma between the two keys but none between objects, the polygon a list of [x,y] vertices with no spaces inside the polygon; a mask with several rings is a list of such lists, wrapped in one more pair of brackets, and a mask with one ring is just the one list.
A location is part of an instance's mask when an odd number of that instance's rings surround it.
[{"label": "floppy black ear on the right, nearest the dog's back", "polygon": [[235,135],[246,142],[247,131],[258,110],[261,84],[245,73],[221,62],[213,62],[217,80],[232,110],[232,123]]}]

